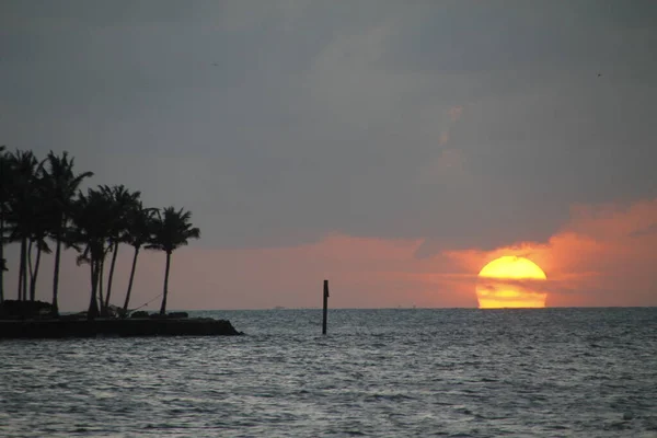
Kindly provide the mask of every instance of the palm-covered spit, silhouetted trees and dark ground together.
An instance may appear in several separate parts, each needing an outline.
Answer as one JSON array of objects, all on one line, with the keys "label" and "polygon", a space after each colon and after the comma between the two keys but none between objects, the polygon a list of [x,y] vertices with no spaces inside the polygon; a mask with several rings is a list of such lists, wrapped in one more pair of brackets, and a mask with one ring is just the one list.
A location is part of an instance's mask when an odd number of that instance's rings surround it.
[{"label": "palm-covered spit, silhouetted trees and dark ground together", "polygon": [[[59,155],[50,151],[39,160],[30,150],[12,152],[0,146],[0,337],[10,333],[16,335],[10,337],[20,337],[16,330],[46,335],[36,337],[48,337],[48,331],[87,336],[99,330],[99,334],[107,335],[237,334],[228,321],[166,313],[172,255],[189,240],[200,238],[200,230],[191,222],[192,212],[173,206],[146,207],[141,192],[123,184],[80,188],[92,176],[92,172],[78,172],[74,158],[66,151]],[[19,277],[18,290],[12,293],[15,299],[9,299],[10,291],[4,287],[4,273],[10,269],[4,249],[9,244],[20,245],[19,260],[11,266]],[[132,246],[134,255],[127,290],[118,298],[113,280],[120,245]],[[151,315],[129,308],[142,250],[166,255],[160,311]],[[89,266],[89,276],[81,276],[89,280],[89,307],[74,315],[59,314],[62,251],[77,252],[78,266]],[[42,256],[51,253],[51,299],[36,301],[38,274],[44,268]],[[117,298],[120,306],[112,303]]]}]

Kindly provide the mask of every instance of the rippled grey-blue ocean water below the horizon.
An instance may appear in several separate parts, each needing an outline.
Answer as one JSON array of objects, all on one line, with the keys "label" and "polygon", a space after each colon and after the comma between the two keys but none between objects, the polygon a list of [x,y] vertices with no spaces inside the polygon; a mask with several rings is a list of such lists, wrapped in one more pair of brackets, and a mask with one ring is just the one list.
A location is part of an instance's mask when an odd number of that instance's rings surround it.
[{"label": "rippled grey-blue ocean water below the horizon", "polygon": [[191,312],[0,342],[2,437],[657,437],[657,309]]}]

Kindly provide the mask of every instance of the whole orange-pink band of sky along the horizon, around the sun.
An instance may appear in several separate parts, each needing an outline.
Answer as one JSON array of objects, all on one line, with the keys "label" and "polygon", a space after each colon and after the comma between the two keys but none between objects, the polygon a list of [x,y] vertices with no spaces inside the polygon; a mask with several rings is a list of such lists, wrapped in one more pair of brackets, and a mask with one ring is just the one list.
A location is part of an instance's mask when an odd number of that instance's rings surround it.
[{"label": "whole orange-pink band of sky along the horizon, around the sun", "polygon": [[[548,306],[657,306],[657,199],[631,205],[577,205],[570,220],[546,242],[519,242],[494,251],[468,250],[416,256],[423,240],[326,235],[290,247],[212,250],[184,247],[172,260],[171,309],[267,309],[321,306],[322,281],[330,280],[331,307],[476,307],[477,273],[502,255],[527,257],[546,281],[526,285],[548,292]],[[38,299],[48,300],[51,257],[45,257]],[[113,302],[120,304],[131,251],[122,249]],[[60,303],[82,310],[89,300],[88,267],[67,251]],[[15,290],[9,272],[7,290]],[[143,252],[132,308],[162,290],[164,256]],[[525,280],[523,280],[525,281]],[[11,284],[13,283],[13,285]]]}]

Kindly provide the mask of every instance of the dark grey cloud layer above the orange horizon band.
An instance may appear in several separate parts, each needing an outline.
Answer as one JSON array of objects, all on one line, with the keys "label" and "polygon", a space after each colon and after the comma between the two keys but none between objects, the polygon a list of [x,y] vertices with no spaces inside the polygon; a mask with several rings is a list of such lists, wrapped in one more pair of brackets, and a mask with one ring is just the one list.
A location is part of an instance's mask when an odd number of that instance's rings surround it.
[{"label": "dark grey cloud layer above the orange horizon band", "polygon": [[657,195],[655,18],[649,1],[4,1],[0,142],[185,206],[208,246],[540,241],[572,203]]}]

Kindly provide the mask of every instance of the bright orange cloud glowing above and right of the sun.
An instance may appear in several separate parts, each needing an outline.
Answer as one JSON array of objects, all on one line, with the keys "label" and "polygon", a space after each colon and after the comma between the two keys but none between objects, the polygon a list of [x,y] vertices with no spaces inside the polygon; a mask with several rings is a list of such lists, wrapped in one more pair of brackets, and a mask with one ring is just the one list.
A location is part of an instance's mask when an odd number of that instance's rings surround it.
[{"label": "bright orange cloud glowing above and right of the sun", "polygon": [[527,257],[548,275],[548,306],[655,306],[657,200],[577,205],[570,216],[546,243],[520,242],[449,256],[470,272],[503,255]]}]

